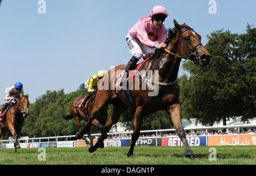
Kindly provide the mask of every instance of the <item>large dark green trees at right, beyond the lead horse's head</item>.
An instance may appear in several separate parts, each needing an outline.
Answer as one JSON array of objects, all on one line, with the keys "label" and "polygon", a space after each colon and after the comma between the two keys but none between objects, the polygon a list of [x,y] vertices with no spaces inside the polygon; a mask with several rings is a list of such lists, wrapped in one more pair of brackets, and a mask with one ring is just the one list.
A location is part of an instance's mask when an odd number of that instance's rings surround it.
[{"label": "large dark green trees at right, beyond the lead horse's head", "polygon": [[255,118],[256,29],[247,25],[245,34],[223,29],[208,36],[211,54],[208,67],[191,62],[183,68],[190,76],[181,78],[181,103],[185,118],[196,118],[204,125],[242,116]]}]

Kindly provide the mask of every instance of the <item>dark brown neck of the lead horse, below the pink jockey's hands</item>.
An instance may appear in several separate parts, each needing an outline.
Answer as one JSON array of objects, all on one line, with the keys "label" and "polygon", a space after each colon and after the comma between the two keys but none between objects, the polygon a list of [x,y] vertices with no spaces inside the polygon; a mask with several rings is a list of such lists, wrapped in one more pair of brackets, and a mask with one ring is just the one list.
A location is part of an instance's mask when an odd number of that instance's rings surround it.
[{"label": "dark brown neck of the lead horse, below the pink jockey's hands", "polygon": [[[177,38],[175,41],[171,41],[171,43],[167,46],[167,49],[172,51],[172,53],[179,52],[179,42],[177,41]],[[179,66],[180,59],[176,59],[173,55],[163,51],[163,53],[157,59],[157,62],[154,63],[153,70],[159,70],[159,81],[171,83],[177,78]]]}]

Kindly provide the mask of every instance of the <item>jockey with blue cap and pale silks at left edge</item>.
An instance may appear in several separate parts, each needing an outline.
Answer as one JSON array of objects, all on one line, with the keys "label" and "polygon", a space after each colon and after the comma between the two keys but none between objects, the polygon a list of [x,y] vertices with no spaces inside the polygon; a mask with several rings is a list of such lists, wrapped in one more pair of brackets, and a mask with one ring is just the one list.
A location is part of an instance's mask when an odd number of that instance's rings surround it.
[{"label": "jockey with blue cap and pale silks at left edge", "polygon": [[2,114],[6,108],[8,107],[9,103],[11,102],[12,104],[15,103],[16,98],[19,97],[19,94],[22,93],[24,94],[23,91],[23,84],[20,82],[15,83],[14,85],[9,85],[9,87],[6,88],[5,90],[5,105],[3,105],[3,108],[1,110]]}]

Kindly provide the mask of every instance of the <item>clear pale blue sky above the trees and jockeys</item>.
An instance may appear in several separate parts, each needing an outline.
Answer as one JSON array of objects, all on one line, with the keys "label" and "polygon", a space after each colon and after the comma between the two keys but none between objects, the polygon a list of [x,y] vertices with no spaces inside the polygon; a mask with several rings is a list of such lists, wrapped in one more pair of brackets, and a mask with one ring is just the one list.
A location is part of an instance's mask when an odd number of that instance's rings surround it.
[{"label": "clear pale blue sky above the trees and jockeys", "polygon": [[[213,1],[216,13],[210,14]],[[254,0],[46,0],[46,14],[39,14],[38,2],[2,0],[0,104],[5,89],[17,81],[35,102],[47,90],[73,92],[98,70],[127,64],[127,32],[155,5],[170,14],[164,22],[167,28],[174,27],[174,19],[187,23],[204,45],[213,31],[245,33],[247,23],[256,24]],[[180,67],[179,75],[185,73]]]}]

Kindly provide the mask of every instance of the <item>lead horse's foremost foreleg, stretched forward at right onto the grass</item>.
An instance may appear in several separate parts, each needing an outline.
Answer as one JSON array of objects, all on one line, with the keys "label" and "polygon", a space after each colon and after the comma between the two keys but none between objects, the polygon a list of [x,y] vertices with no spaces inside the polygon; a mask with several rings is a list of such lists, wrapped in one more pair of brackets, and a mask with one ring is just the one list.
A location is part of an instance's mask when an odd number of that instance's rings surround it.
[{"label": "lead horse's foremost foreleg, stretched forward at right onto the grass", "polygon": [[191,159],[195,158],[195,156],[191,150],[191,147],[188,144],[188,140],[186,138],[185,131],[184,131],[184,128],[181,123],[181,106],[180,106],[180,104],[179,103],[172,104],[168,108],[169,109],[168,109],[167,113],[171,115],[172,124],[174,125],[174,127],[177,131],[177,134],[183,143],[183,147],[185,149],[186,156]]}]

